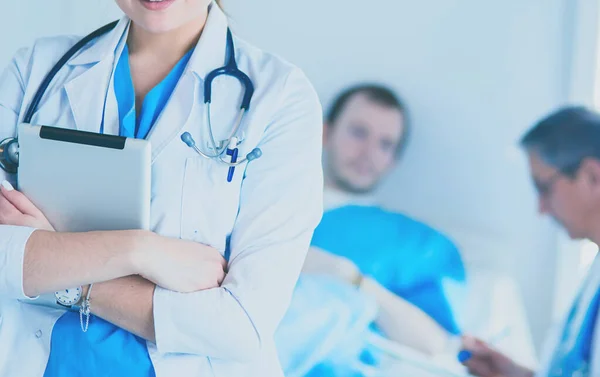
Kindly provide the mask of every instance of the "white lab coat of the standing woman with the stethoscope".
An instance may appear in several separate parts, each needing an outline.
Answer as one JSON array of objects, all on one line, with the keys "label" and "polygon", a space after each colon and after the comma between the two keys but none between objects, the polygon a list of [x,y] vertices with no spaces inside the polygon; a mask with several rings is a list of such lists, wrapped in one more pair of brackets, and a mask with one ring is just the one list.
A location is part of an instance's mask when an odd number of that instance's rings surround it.
[{"label": "white lab coat of the standing woman with the stethoscope", "polygon": [[[67,63],[32,123],[98,132],[106,98],[105,133],[118,133],[112,77],[128,22],[122,19]],[[256,89],[240,154],[260,147],[263,156],[238,167],[232,183],[226,182],[227,166],[198,156],[180,140],[188,131],[198,145],[207,144],[204,77],[224,64],[226,29],[226,17],[213,6],[189,65],[148,137],[152,230],[222,253],[231,235],[229,273],[220,288],[188,295],[156,289],[157,344],[149,343],[148,349],[157,377],[282,376],[273,333],[322,214],[321,106],[303,73],[281,59],[235,38],[239,68]],[[40,82],[78,40],[41,39],[17,53],[0,76],[0,139],[15,135]],[[236,80],[215,81],[211,113],[217,140],[231,131],[240,100]],[[0,226],[0,376],[42,376],[51,331],[62,314],[17,301],[25,298],[22,263],[32,231]]]}]

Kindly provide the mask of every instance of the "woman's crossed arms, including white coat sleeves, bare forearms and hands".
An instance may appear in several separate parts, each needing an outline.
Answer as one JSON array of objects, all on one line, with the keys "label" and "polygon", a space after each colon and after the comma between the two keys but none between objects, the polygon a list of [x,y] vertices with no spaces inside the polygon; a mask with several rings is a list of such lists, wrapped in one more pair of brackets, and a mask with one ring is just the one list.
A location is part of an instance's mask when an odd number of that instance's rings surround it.
[{"label": "woman's crossed arms, including white coat sleeves, bare forearms and hands", "polygon": [[[0,87],[9,88],[0,91],[0,139],[16,133],[30,53],[0,74]],[[0,295],[23,299],[94,283],[92,310],[154,339],[159,353],[254,359],[285,314],[323,202],[318,96],[298,69],[271,92],[265,100],[273,111],[257,129],[263,157],[246,167],[227,275],[220,254],[195,242],[150,232],[53,232],[30,202],[2,189]]]}]

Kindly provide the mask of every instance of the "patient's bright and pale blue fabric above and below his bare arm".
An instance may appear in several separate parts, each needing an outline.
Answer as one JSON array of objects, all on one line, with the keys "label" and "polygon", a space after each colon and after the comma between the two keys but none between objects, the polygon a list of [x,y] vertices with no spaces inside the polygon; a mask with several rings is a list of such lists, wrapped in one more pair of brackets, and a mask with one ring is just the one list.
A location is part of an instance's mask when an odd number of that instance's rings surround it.
[{"label": "patient's bright and pale blue fabric above and below his bare arm", "polygon": [[[350,259],[447,331],[460,333],[453,288],[464,287],[465,270],[454,244],[431,227],[377,207],[346,206],[324,214],[312,245]],[[376,364],[365,350],[365,336],[377,332],[376,314],[376,303],[352,286],[302,275],[275,334],[286,376],[354,377],[352,362]]]}]

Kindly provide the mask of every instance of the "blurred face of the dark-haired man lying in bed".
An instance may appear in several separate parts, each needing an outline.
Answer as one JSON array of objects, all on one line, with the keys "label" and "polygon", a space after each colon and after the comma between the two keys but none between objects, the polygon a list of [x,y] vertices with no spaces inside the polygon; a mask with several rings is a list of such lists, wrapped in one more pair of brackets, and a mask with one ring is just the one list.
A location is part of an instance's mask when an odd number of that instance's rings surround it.
[{"label": "blurred face of the dark-haired man lying in bed", "polygon": [[402,112],[363,94],[348,100],[325,128],[327,183],[343,191],[373,190],[392,168],[404,130]]}]

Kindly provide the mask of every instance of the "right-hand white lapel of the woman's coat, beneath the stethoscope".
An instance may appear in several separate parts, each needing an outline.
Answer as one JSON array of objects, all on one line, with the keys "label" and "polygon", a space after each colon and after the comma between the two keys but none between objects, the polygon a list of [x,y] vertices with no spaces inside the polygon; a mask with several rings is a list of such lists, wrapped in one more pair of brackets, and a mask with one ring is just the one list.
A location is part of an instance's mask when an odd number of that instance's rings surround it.
[{"label": "right-hand white lapel of the woman's coat, beneath the stethoscope", "polygon": [[[198,122],[198,126],[194,130],[206,128],[203,120],[205,109],[202,85],[210,71],[224,65],[226,38],[227,18],[219,7],[211,5],[204,30],[194,48],[188,66],[163,113],[148,134],[148,140],[152,144],[152,161],[191,119]],[[203,138],[198,138],[197,142],[201,140]]]}]

